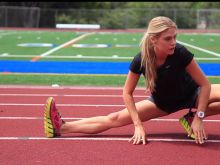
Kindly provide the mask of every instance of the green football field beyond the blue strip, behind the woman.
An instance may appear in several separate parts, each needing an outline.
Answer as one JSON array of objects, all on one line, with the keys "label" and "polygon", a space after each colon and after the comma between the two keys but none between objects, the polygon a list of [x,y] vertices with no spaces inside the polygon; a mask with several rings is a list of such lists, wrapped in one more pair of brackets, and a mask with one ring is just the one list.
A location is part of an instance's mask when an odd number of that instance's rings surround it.
[{"label": "green football field beyond the blue strip, behind the woman", "polygon": [[[86,33],[57,31],[0,31],[1,60],[30,60],[47,53]],[[142,33],[94,33],[65,47],[48,53],[40,60],[62,61],[129,61],[139,52]],[[220,62],[220,35],[218,34],[178,34],[177,40],[210,51],[209,53],[188,47],[199,61]],[[21,44],[29,44],[19,46]],[[41,44],[41,45],[31,45]],[[51,44],[45,46],[43,44]],[[75,47],[77,45],[84,47]],[[90,44],[90,46],[88,46]],[[92,44],[106,44],[108,47],[91,47]],[[87,45],[87,46],[86,46]],[[109,46],[110,45],[110,46]],[[212,52],[217,55],[213,55]],[[207,59],[202,59],[207,58]],[[213,60],[213,58],[219,58]]]}]

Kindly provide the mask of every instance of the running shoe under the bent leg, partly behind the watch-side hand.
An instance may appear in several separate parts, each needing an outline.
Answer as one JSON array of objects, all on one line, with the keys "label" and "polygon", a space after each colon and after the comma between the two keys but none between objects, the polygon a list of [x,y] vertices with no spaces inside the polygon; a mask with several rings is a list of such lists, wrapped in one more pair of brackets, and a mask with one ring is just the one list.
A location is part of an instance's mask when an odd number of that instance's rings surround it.
[{"label": "running shoe under the bent leg, partly behind the watch-side hand", "polygon": [[[190,111],[189,113],[187,113],[186,115],[184,115],[183,117],[179,119],[180,124],[182,125],[184,130],[188,133],[188,135],[191,130],[191,124],[192,124],[194,116],[195,116],[195,112]],[[192,133],[190,137],[192,139],[195,139],[194,133]]]}]

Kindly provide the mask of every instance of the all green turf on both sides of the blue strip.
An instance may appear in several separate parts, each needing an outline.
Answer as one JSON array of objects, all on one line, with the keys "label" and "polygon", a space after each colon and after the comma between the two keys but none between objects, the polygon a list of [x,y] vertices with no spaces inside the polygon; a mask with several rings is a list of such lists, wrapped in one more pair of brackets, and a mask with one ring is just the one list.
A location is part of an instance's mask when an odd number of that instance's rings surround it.
[{"label": "all green turf on both sides of the blue strip", "polygon": [[[131,61],[139,52],[142,33],[88,33],[64,31],[0,31],[0,60]],[[219,34],[178,34],[177,40],[199,63],[220,63]],[[70,42],[70,43],[69,43]],[[68,44],[69,43],[69,44]],[[122,86],[126,75],[0,74],[0,84]],[[219,77],[209,77],[220,83]],[[141,86],[144,81],[141,80]]]}]

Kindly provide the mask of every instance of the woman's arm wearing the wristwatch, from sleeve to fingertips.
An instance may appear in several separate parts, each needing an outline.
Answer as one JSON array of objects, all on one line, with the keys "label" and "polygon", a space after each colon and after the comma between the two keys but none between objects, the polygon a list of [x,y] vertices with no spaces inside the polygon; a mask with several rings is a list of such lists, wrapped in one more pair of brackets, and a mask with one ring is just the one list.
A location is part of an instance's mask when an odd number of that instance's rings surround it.
[{"label": "woman's arm wearing the wristwatch, from sleeve to fingertips", "polygon": [[[206,78],[205,74],[202,72],[198,64],[193,59],[190,64],[186,67],[187,72],[195,80],[195,82],[200,86],[200,93],[198,96],[198,107],[197,112],[205,112],[208,106],[211,84]],[[196,143],[204,143],[203,139],[207,138],[205,130],[203,128],[202,120],[195,115],[192,123],[192,131],[196,136]]]}]

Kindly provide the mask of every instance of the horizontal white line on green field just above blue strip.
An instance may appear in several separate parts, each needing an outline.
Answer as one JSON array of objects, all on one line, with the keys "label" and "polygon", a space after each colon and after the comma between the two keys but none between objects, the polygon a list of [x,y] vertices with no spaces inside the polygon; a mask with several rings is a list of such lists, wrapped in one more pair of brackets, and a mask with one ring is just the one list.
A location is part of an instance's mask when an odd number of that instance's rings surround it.
[{"label": "horizontal white line on green field just above blue strip", "polygon": [[[202,48],[200,48],[202,49]],[[204,49],[205,50],[205,49]],[[208,50],[206,50],[208,51]],[[19,57],[19,58],[33,58],[36,57],[36,55],[0,55],[0,58],[3,57],[9,57],[9,58],[14,58],[14,57]],[[111,59],[111,60],[131,60],[133,59],[133,57],[107,57],[107,56],[73,56],[73,55],[69,55],[69,56],[42,56],[43,58],[66,58],[66,59]],[[216,58],[209,58],[209,57],[195,57],[196,60],[220,60],[220,56],[216,57]]]}]

